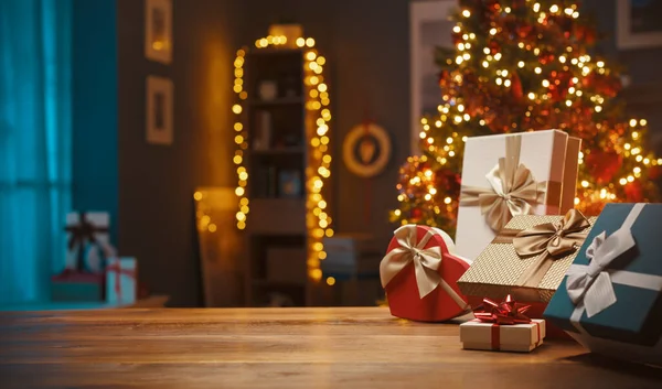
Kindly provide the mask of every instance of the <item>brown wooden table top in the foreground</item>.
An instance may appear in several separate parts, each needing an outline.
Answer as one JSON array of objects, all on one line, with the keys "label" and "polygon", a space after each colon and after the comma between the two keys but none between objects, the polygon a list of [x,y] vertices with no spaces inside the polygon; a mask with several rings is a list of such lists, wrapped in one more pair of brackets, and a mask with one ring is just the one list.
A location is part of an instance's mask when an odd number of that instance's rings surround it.
[{"label": "brown wooden table top in the foreground", "polygon": [[662,388],[662,372],[546,342],[460,348],[458,326],[387,309],[0,313],[0,387]]}]

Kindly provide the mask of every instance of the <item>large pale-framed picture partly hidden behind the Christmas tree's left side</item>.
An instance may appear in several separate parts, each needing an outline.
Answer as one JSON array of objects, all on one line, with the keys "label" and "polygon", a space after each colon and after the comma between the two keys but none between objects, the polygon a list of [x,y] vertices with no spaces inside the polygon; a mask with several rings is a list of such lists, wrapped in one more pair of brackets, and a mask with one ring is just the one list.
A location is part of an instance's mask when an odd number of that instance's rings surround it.
[{"label": "large pale-framed picture partly hidden behind the Christmas tree's left side", "polygon": [[441,102],[437,47],[452,47],[455,22],[449,18],[456,0],[414,1],[409,3],[412,154],[419,154],[420,118],[437,112]]}]

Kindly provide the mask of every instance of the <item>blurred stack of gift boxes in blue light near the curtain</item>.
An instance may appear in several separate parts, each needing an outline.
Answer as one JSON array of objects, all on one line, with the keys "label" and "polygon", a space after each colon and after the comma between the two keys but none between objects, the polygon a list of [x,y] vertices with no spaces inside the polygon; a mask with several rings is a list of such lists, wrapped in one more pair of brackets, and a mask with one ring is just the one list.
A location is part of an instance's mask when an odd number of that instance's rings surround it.
[{"label": "blurred stack of gift boxes in blue light near the curtain", "polygon": [[65,268],[51,278],[54,302],[136,302],[137,262],[118,257],[110,244],[109,215],[102,212],[70,213],[65,230]]}]

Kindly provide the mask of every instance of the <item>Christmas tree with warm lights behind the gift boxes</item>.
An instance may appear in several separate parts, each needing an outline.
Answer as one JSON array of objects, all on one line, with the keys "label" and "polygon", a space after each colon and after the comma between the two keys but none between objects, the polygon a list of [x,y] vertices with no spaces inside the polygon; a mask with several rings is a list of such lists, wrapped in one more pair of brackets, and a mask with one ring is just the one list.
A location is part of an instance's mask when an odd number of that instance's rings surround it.
[{"label": "Christmas tree with warm lights behind the gift boxes", "polygon": [[662,159],[647,122],[628,118],[617,69],[589,50],[597,34],[575,1],[461,0],[453,50],[438,50],[438,115],[421,119],[423,155],[401,168],[392,221],[452,233],[467,137],[560,129],[583,139],[576,208],[649,202]]}]

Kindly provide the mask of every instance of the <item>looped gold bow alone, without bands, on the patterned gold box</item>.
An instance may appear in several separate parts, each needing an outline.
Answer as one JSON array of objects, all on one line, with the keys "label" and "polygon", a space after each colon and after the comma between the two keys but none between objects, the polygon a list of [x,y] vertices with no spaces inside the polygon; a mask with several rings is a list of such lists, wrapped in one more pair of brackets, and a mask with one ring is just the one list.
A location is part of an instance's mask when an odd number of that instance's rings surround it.
[{"label": "looped gold bow alone, without bands, on the patterned gold box", "polygon": [[513,246],[521,257],[537,256],[545,251],[553,258],[566,256],[586,239],[583,233],[590,223],[576,209],[570,209],[556,223],[545,223],[522,230],[513,238]]}]

